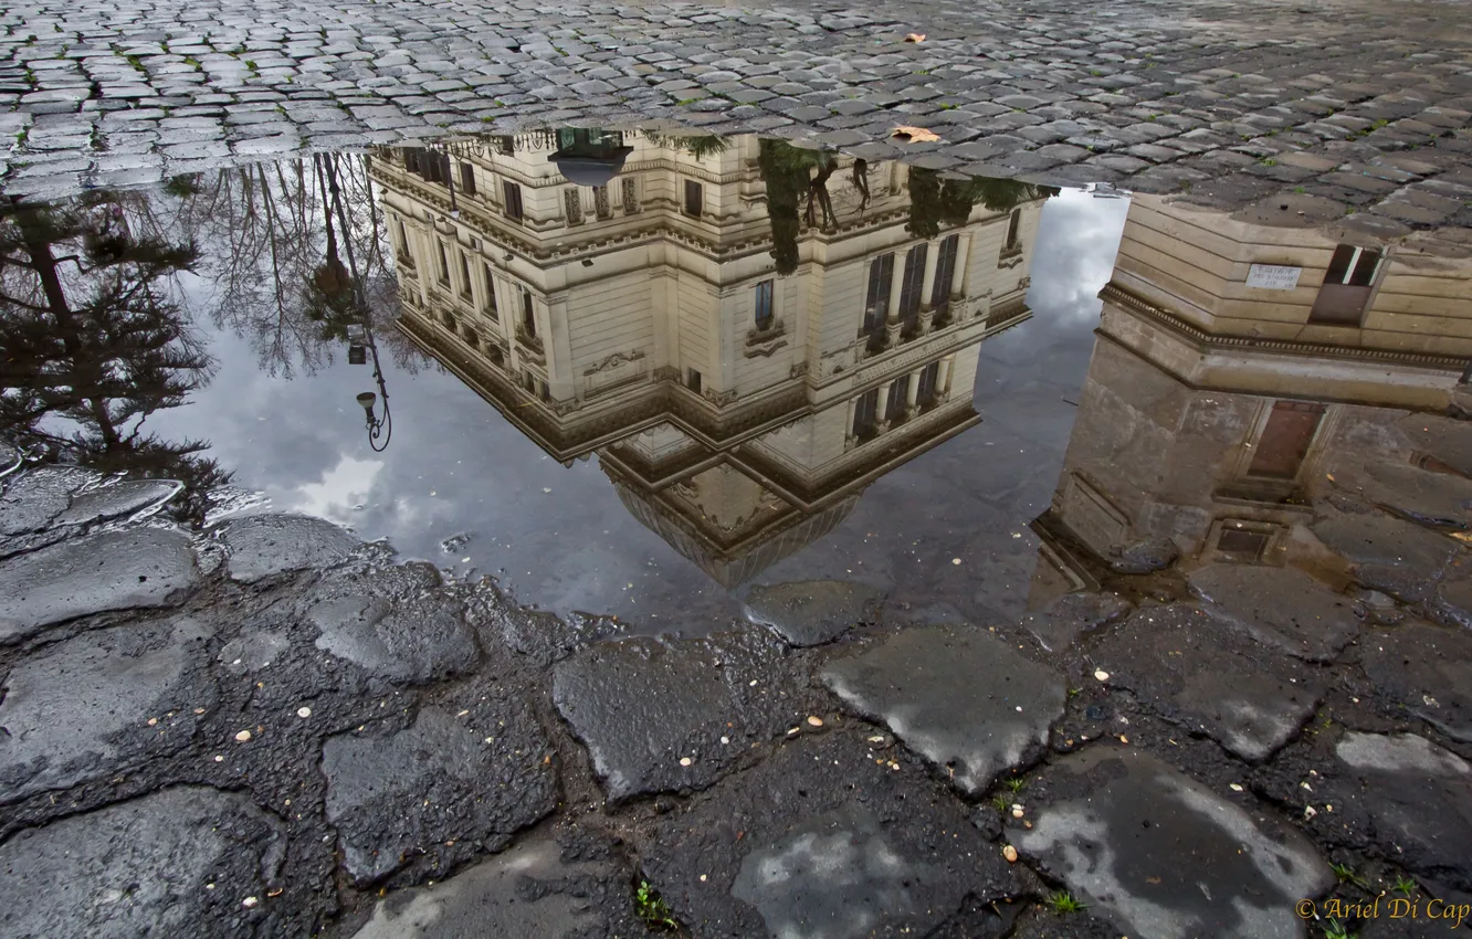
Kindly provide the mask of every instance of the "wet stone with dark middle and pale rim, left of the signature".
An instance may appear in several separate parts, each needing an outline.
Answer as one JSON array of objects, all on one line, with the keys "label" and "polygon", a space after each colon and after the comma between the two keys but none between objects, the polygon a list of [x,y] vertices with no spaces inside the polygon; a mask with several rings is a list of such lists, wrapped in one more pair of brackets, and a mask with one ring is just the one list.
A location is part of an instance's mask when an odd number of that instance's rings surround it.
[{"label": "wet stone with dark middle and pale rim, left of the signature", "polygon": [[1334,874],[1297,830],[1154,756],[1098,745],[1048,768],[1017,848],[1129,936],[1298,939]]}]

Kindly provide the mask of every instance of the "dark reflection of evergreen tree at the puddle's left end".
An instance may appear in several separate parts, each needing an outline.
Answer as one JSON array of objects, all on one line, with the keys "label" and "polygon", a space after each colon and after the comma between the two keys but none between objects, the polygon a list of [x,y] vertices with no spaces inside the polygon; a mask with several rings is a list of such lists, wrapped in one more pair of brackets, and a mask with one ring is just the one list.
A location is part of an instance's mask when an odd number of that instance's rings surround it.
[{"label": "dark reflection of evergreen tree at the puddle's left end", "polygon": [[208,442],[165,442],[144,422],[210,378],[171,291],[197,261],[191,243],[132,233],[109,193],[0,203],[0,433],[54,459],[181,480],[196,522],[228,474],[202,456]]}]

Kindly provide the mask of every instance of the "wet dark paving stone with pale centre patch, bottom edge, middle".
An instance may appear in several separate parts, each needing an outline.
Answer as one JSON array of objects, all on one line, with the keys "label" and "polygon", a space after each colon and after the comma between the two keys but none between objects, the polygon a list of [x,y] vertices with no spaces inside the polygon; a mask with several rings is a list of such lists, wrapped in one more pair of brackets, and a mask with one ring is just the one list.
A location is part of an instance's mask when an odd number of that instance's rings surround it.
[{"label": "wet dark paving stone with pale centre patch, bottom edge, middle", "polygon": [[661,817],[645,868],[690,935],[924,936],[967,895],[1019,892],[958,801],[873,754],[849,733],[804,736]]}]

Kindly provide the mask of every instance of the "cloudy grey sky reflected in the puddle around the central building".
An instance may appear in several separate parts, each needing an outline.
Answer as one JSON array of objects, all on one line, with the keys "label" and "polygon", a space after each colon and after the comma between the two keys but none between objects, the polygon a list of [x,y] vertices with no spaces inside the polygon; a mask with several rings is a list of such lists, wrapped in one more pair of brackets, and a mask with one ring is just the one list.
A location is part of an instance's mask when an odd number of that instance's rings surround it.
[{"label": "cloudy grey sky reflected in the puddle around the central building", "polygon": [[[842,577],[936,615],[1022,611],[1038,548],[1027,522],[1058,478],[1126,208],[1083,191],[1047,202],[1032,247],[1033,316],[980,346],[982,422],[882,475],[833,531],[752,583]],[[227,237],[200,244],[206,259],[231,250]],[[596,456],[556,462],[434,361],[402,347],[384,355],[394,430],[378,453],[355,402],[374,387],[371,369],[347,362],[346,343],[265,368],[261,333],[240,328],[218,272],[206,263],[180,286],[215,374],[147,427],[212,442],[209,456],[234,484],[263,496],[256,511],[328,518],[458,577],[492,574],[558,612],[683,631],[739,612],[749,584],[727,590],[636,521]]]}]

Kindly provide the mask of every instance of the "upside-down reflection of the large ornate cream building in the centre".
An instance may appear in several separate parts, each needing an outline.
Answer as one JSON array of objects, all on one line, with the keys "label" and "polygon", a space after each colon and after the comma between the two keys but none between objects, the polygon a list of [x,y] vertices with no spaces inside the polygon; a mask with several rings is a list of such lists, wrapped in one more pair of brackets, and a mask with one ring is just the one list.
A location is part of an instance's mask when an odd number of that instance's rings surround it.
[{"label": "upside-down reflection of the large ornate cream building in the centre", "polygon": [[400,328],[555,459],[596,453],[724,586],[979,422],[977,346],[1030,315],[1045,199],[596,130],[386,150],[372,177]]}]

